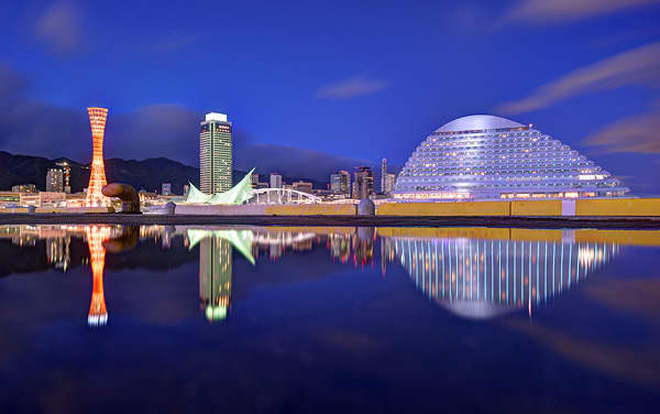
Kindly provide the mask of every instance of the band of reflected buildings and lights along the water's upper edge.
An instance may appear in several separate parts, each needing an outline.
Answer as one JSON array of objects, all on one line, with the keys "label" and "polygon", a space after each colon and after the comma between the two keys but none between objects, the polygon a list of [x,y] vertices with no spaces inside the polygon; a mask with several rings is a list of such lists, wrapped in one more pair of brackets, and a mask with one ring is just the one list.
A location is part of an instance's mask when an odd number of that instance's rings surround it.
[{"label": "band of reflected buildings and lights along the water's upper edge", "polygon": [[[31,262],[28,255],[37,254],[34,249],[44,240],[45,268],[66,272],[90,264],[88,324],[92,327],[108,322],[103,294],[106,251],[112,255],[135,246],[140,250],[146,241],[160,244],[164,252],[160,258],[153,252],[138,254],[146,265],[157,265],[163,258],[174,255],[168,253],[174,240],[183,239],[187,250],[199,248],[199,301],[209,322],[226,319],[231,309],[232,251],[255,265],[264,255],[276,262],[286,254],[315,249],[324,249],[338,266],[361,269],[380,261],[384,275],[393,265],[403,268],[427,298],[461,317],[484,319],[518,308],[531,316],[534,308],[585,282],[614,260],[620,246],[660,246],[659,235],[483,228],[0,227],[0,239],[9,239],[12,246],[23,249],[21,255],[25,260],[21,265],[35,263],[33,271],[42,269],[40,261]],[[88,257],[77,250],[79,240],[86,242]],[[1,269],[1,274],[24,271],[11,261],[2,266],[7,269]]]}]

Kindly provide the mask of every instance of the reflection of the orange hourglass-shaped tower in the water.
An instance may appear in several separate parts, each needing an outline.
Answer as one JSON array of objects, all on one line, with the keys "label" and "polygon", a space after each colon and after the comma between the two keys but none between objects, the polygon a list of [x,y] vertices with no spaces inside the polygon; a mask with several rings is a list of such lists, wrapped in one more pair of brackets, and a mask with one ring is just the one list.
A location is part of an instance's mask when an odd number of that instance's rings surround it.
[{"label": "reflection of the orange hourglass-shaped tower in the water", "polygon": [[103,295],[103,269],[106,268],[103,241],[110,238],[110,228],[90,226],[85,229],[85,232],[87,233],[87,244],[89,244],[91,275],[94,277],[87,324],[89,326],[106,325],[108,309],[106,309],[106,296]]}]

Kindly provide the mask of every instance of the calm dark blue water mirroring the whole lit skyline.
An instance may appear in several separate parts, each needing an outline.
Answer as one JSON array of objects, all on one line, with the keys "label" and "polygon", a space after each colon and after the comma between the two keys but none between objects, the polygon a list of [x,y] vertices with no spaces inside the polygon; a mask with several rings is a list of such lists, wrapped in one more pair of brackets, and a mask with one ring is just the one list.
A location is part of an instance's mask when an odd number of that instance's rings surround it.
[{"label": "calm dark blue water mirroring the whole lit skyline", "polygon": [[660,232],[0,226],[0,408],[654,412]]}]

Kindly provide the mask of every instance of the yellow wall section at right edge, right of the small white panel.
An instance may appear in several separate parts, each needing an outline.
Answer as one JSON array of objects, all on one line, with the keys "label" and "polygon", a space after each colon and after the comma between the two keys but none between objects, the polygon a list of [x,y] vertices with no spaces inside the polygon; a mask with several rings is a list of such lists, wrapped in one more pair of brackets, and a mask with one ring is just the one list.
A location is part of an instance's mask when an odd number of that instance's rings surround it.
[{"label": "yellow wall section at right edge, right of the small white panel", "polygon": [[660,216],[660,198],[579,199],[575,216]]}]

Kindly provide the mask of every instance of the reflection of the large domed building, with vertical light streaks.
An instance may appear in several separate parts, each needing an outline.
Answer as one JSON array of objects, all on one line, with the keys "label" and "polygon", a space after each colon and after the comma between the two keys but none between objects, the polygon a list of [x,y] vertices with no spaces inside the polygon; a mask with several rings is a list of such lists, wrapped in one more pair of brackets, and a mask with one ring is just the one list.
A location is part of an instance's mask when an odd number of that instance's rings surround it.
[{"label": "reflection of the large domed building, with vertical light streaks", "polygon": [[381,246],[383,262],[399,262],[427,297],[475,319],[515,308],[531,315],[619,252],[612,242],[570,240],[395,237]]}]

